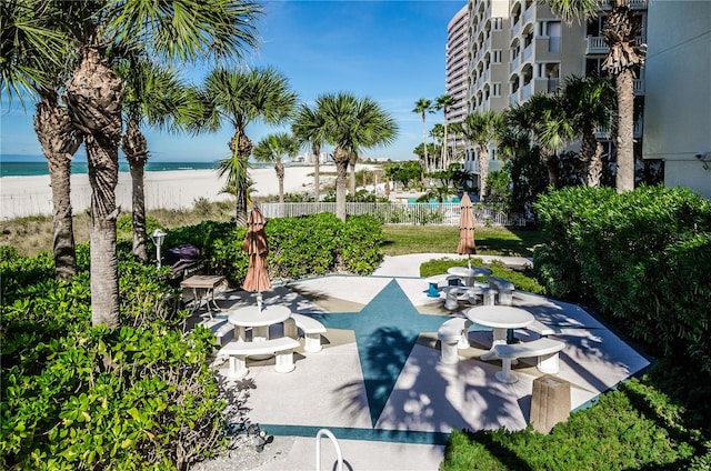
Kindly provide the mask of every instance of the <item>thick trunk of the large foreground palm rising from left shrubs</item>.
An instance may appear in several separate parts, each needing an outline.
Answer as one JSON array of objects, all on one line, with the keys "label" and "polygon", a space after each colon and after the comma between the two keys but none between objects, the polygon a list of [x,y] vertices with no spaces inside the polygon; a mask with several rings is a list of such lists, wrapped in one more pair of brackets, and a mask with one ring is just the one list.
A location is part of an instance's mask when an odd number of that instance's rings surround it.
[{"label": "thick trunk of the large foreground palm rising from left shrubs", "polygon": [[91,183],[91,322],[119,325],[116,252],[116,186],[123,83],[108,67],[100,47],[81,50],[81,62],[67,87],[74,124],[83,132]]}]

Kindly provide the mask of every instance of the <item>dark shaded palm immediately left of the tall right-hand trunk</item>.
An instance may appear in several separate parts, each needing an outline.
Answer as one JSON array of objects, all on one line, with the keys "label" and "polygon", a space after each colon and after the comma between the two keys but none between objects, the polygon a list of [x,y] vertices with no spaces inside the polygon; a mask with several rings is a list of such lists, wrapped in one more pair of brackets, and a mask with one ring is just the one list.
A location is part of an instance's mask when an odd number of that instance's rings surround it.
[{"label": "dark shaded palm immediately left of the tall right-hand trunk", "polygon": [[585,184],[599,187],[603,148],[595,133],[612,119],[614,88],[608,78],[571,76],[563,81],[561,94],[572,127],[581,137],[580,160],[585,170]]}]

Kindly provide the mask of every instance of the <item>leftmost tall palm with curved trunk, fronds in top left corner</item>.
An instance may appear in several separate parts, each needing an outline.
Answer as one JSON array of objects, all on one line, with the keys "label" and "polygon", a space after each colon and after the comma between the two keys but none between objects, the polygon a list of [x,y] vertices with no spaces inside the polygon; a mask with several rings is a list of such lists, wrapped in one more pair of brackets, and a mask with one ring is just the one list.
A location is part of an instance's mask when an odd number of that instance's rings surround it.
[{"label": "leftmost tall palm with curved trunk, fronds in top left corner", "polygon": [[[49,30],[53,18],[38,17],[28,2],[2,2],[0,88],[9,100],[17,98],[23,107],[26,100],[38,100],[33,126],[47,159],[52,189],[54,277],[60,281],[71,281],[77,273],[71,159],[83,137],[60,100],[72,56],[64,37]],[[50,51],[52,54],[48,56]]]}]

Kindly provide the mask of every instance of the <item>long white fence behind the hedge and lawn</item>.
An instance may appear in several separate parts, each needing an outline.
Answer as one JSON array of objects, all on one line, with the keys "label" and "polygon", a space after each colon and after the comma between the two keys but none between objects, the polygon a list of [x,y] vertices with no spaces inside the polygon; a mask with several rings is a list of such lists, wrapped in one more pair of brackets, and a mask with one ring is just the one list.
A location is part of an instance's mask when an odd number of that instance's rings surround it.
[{"label": "long white fence behind the hedge and lawn", "polygon": [[[384,224],[458,226],[461,214],[459,203],[346,203],[348,214],[371,214]],[[297,218],[320,212],[336,213],[336,203],[261,203],[266,218]],[[473,204],[479,226],[525,226],[525,218],[507,214],[482,204]]]}]

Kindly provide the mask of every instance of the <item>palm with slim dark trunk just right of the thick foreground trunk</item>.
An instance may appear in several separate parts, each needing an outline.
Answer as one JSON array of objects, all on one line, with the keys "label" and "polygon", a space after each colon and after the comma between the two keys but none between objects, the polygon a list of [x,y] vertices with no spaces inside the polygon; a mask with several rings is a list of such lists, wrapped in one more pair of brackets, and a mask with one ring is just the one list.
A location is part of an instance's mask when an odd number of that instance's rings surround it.
[{"label": "palm with slim dark trunk just right of the thick foreground trunk", "polygon": [[181,114],[189,114],[191,111],[197,113],[200,110],[196,109],[197,100],[191,99],[190,91],[180,81],[174,69],[152,63],[146,58],[131,58],[121,63],[117,72],[126,83],[126,131],[121,139],[121,150],[131,173],[133,254],[148,261],[144,169],[149,152],[141,127],[148,124],[174,130],[181,122]]}]

